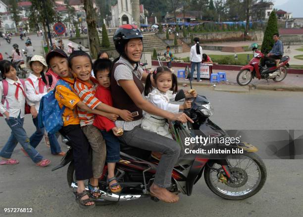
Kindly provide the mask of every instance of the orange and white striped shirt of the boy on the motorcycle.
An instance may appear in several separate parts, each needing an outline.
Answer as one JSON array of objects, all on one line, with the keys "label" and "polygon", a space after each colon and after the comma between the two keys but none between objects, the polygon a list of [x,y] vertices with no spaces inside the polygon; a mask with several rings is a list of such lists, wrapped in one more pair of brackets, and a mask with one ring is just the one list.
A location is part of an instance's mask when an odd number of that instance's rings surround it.
[{"label": "orange and white striped shirt of the boy on the motorcycle", "polygon": [[[74,88],[81,101],[85,103],[89,108],[95,109],[98,105],[101,104],[101,102],[95,97],[98,81],[93,77],[91,77],[91,81],[93,84],[76,78]],[[94,123],[95,114],[78,108],[78,115],[81,127]]]}]

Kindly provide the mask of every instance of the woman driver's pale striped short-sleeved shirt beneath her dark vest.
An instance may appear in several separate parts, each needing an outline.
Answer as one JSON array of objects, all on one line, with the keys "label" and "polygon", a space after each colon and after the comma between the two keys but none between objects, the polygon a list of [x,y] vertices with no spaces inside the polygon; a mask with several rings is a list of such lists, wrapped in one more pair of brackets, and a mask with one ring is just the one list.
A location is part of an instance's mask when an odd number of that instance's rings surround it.
[{"label": "woman driver's pale striped short-sleeved shirt beneath her dark vest", "polygon": [[[119,65],[115,69],[114,77],[116,81],[133,80],[133,73],[141,80],[143,74],[143,70],[141,69],[141,67],[138,67],[138,69],[135,71],[135,67],[123,57],[120,57],[117,63],[123,63],[123,65]],[[112,96],[112,98],[114,97],[115,96]],[[116,127],[121,127],[124,131],[131,131],[141,123],[142,123],[142,118],[134,121],[124,121],[124,120],[115,121]]]}]

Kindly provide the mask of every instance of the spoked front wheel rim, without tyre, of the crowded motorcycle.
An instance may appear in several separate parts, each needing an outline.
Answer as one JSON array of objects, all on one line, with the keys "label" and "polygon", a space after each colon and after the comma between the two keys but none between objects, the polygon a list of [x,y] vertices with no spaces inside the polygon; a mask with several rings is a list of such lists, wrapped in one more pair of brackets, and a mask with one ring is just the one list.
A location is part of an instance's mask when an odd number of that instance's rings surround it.
[{"label": "spoked front wheel rim, without tyre, of the crowded motorcycle", "polygon": [[[243,196],[257,188],[261,181],[261,169],[249,156],[229,155],[229,169],[236,178],[236,182],[219,182],[217,171],[211,170],[210,183],[222,194],[228,196]],[[221,165],[214,164],[213,168],[220,169]]]}]

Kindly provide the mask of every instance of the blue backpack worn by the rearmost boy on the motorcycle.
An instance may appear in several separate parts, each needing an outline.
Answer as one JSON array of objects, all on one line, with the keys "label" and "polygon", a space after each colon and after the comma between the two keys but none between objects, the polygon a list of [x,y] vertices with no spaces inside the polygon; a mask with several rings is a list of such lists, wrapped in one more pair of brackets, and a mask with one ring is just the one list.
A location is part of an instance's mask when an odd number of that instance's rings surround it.
[{"label": "blue backpack worn by the rearmost boy on the motorcycle", "polygon": [[55,134],[63,126],[62,114],[65,106],[60,109],[58,101],[55,98],[57,85],[63,85],[72,91],[66,81],[59,79],[55,88],[42,97],[38,113],[39,128],[45,127],[46,131],[50,134]]}]

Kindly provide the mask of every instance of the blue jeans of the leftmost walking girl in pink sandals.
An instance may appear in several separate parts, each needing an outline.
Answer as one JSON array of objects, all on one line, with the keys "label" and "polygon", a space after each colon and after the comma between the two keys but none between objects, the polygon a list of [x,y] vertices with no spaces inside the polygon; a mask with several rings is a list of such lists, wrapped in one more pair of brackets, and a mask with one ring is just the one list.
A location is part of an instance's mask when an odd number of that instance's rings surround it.
[{"label": "blue jeans of the leftmost walking girl in pink sandals", "polygon": [[38,163],[43,159],[43,156],[30,144],[30,140],[26,135],[23,128],[24,118],[20,118],[20,114],[17,118],[9,117],[5,118],[5,121],[9,128],[11,129],[11,135],[8,138],[6,144],[0,151],[0,156],[3,158],[10,158],[13,150],[15,149],[18,142],[28,153],[29,157]]}]

